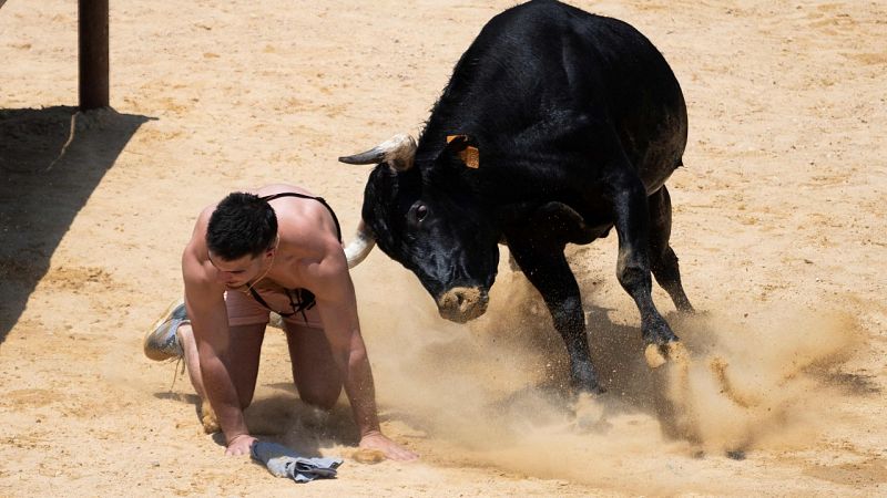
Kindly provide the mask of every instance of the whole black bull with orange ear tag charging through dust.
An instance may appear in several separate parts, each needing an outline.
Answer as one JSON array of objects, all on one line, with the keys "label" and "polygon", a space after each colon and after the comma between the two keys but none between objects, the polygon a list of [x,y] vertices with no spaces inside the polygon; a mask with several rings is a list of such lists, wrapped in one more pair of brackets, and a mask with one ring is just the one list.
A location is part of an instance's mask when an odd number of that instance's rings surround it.
[{"label": "whole black bull with orange ear tag charging through dust", "polygon": [[634,28],[554,1],[512,8],[459,60],[418,144],[398,135],[340,158],[378,163],[349,258],[375,239],[442,317],[465,322],[486,311],[506,243],[567,343],[573,385],[601,392],[563,250],[615,227],[619,282],[641,312],[648,361],[664,362],[679,343],[653,304],[651,270],[680,311],[693,310],[664,185],[686,133],[681,87]]}]

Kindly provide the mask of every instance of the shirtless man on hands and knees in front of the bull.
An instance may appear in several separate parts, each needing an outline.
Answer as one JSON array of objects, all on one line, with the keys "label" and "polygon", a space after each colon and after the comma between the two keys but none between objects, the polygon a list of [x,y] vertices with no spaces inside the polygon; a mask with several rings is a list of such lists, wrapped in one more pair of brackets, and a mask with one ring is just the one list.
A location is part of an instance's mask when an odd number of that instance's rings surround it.
[{"label": "shirtless man on hands and knees in front of the bull", "polygon": [[[149,332],[145,354],[184,355],[195,391],[225,435],[225,454],[248,455],[256,440],[243,411],[253,400],[268,312],[275,311],[302,401],[329,409],[345,387],[360,447],[396,460],[417,458],[379,430],[338,220],[323,199],[290,185],[228,195],[200,215],[182,273],[184,304]],[[203,416],[206,424],[211,414]]]}]

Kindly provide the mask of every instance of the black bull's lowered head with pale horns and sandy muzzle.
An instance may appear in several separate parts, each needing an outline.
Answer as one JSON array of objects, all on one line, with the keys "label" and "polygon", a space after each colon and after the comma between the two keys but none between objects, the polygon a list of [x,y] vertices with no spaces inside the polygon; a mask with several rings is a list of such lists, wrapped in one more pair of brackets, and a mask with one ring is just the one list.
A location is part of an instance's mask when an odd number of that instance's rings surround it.
[{"label": "black bull's lowered head with pale horns and sandy muzzle", "polygon": [[[411,270],[440,315],[467,322],[487,311],[499,249],[487,209],[461,179],[466,145],[417,157],[416,141],[394,138],[339,160],[377,164],[364,191],[363,219],[346,248],[350,266],[378,243]],[[471,151],[477,158],[477,149]],[[462,153],[462,155],[460,155]]]}]

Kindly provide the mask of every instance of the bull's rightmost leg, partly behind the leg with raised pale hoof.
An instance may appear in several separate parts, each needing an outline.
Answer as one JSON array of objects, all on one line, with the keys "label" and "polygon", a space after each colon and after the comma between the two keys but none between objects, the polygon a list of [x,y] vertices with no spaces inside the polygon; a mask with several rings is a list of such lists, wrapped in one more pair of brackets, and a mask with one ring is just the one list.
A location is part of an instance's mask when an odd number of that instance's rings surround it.
[{"label": "bull's rightmost leg, partly behind the leg with raised pale hoof", "polygon": [[669,246],[672,234],[672,200],[663,185],[648,199],[650,209],[650,266],[656,282],[671,295],[677,311],[692,313],[693,305],[681,284],[677,256]]}]

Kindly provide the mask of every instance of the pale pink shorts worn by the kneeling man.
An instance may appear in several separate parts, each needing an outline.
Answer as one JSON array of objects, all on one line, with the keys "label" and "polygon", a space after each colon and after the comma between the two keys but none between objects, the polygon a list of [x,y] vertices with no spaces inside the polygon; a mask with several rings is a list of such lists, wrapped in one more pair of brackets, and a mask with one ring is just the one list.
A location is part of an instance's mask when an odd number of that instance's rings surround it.
[{"label": "pale pink shorts worn by the kneeling man", "polygon": [[[289,297],[283,292],[272,292],[267,290],[258,290],[262,299],[276,312],[292,313],[293,307],[289,304]],[[228,325],[256,325],[267,324],[269,310],[258,303],[252,295],[245,294],[241,291],[225,292],[225,305],[228,309]],[[323,329],[324,322],[320,321],[320,313],[317,312],[317,307],[312,307],[305,310],[305,315],[302,312],[295,313],[290,317],[281,317],[287,325],[307,326],[309,329]],[[307,320],[306,320],[307,319]]]}]

